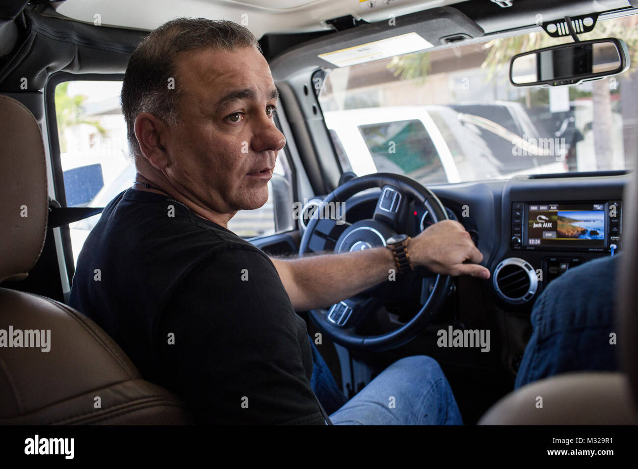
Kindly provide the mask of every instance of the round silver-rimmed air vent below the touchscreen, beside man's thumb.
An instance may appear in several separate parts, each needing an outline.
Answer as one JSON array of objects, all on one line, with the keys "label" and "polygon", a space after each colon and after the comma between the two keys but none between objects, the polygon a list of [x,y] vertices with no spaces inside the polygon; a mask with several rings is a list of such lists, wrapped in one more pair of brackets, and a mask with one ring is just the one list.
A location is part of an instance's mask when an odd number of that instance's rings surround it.
[{"label": "round silver-rimmed air vent below the touchscreen, beside man's thumb", "polygon": [[494,269],[494,290],[508,303],[521,304],[530,301],[538,288],[536,271],[529,262],[510,257]]}]

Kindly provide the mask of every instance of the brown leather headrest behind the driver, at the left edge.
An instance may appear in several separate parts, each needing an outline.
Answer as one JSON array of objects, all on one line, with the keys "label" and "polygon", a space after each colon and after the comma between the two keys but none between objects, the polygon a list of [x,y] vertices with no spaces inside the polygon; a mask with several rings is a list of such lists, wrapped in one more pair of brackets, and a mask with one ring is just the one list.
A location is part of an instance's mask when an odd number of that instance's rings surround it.
[{"label": "brown leather headrest behind the driver, at the left edge", "polygon": [[47,231],[47,163],[40,127],[21,103],[0,95],[0,282],[26,278]]}]

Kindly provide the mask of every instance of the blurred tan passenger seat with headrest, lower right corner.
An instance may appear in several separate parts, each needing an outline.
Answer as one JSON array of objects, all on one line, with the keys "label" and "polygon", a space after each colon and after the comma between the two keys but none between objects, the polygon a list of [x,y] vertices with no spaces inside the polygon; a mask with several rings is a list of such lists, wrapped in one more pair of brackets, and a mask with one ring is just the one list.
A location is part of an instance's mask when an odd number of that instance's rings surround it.
[{"label": "blurred tan passenger seat with headrest, lower right corner", "polygon": [[[578,372],[551,376],[521,386],[498,401],[479,425],[638,424],[638,172],[623,195],[625,252],[618,285],[616,324],[624,372]],[[538,397],[542,408],[537,408]]]}]

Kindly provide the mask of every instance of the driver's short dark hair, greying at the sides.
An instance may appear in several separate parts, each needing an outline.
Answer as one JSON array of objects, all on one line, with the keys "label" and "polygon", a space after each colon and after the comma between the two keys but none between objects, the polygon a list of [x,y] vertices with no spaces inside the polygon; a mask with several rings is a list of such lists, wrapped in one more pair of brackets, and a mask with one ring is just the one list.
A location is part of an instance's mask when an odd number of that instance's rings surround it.
[{"label": "driver's short dark hair, greying at the sides", "polygon": [[128,144],[133,158],[141,155],[135,138],[135,118],[150,112],[167,124],[179,123],[177,103],[179,82],[169,89],[175,77],[177,56],[193,50],[261,50],[253,33],[232,21],[205,18],[178,18],[159,26],[146,36],[131,56],[122,84],[122,114],[126,120]]}]

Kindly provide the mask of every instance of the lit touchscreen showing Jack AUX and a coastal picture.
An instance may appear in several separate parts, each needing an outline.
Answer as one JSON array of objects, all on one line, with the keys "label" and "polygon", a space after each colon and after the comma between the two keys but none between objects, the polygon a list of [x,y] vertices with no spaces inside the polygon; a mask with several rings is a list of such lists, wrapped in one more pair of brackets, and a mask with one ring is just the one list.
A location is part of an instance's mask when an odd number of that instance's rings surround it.
[{"label": "lit touchscreen showing Jack AUX and a coastal picture", "polygon": [[528,246],[605,246],[605,204],[528,204]]}]

